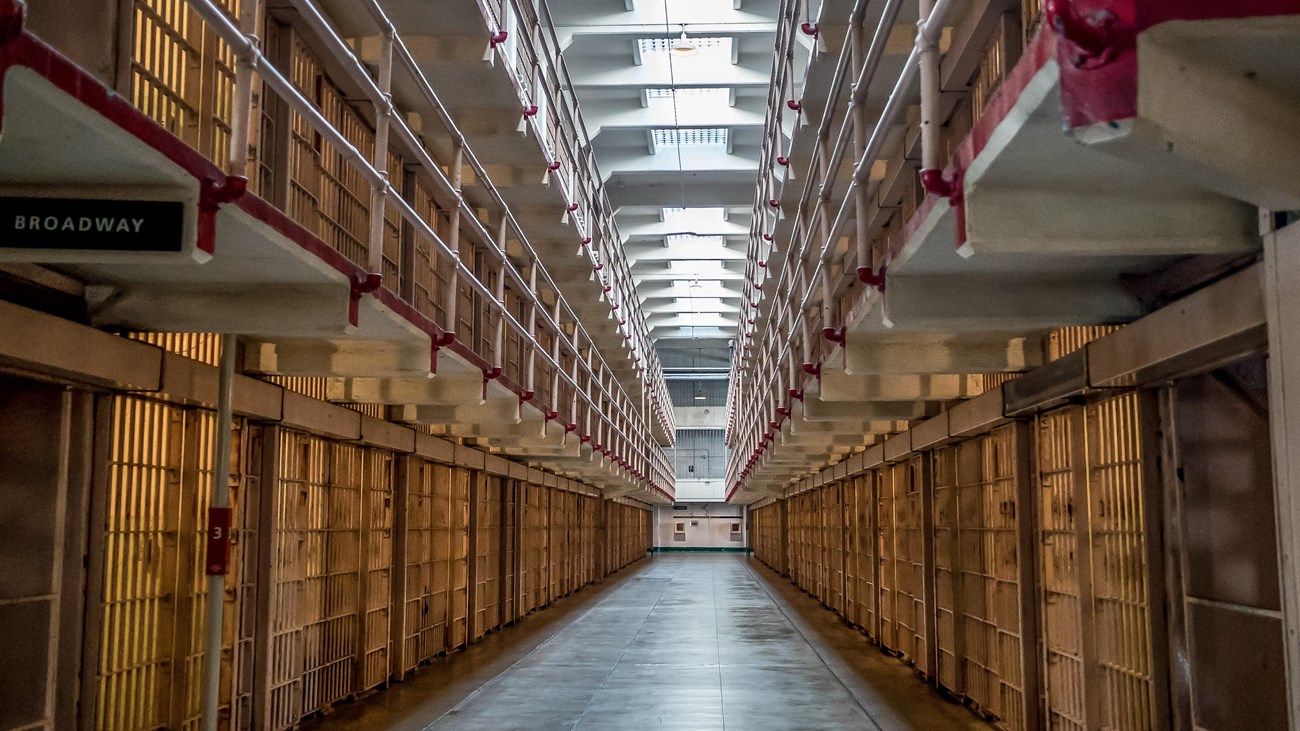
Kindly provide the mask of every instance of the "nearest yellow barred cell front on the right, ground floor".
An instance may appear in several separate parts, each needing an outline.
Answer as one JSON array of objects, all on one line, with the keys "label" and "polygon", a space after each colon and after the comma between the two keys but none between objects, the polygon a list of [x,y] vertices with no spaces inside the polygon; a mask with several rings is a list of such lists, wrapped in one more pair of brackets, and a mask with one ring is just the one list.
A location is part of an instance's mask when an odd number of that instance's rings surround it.
[{"label": "nearest yellow barred cell front on the right, ground floor", "polygon": [[1139,397],[1056,411],[1040,436],[1048,711],[1076,727],[1153,727]]}]

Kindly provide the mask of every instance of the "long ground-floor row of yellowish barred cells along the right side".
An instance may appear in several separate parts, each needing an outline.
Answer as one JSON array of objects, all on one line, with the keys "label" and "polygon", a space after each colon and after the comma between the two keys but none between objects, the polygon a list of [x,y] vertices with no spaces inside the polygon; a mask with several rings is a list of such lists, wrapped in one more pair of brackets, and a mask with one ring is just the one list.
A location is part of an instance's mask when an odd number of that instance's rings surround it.
[{"label": "long ground-floor row of yellowish barred cells along the right side", "polygon": [[1153,402],[1095,395],[760,506],[755,555],[1004,728],[1167,727]]}]

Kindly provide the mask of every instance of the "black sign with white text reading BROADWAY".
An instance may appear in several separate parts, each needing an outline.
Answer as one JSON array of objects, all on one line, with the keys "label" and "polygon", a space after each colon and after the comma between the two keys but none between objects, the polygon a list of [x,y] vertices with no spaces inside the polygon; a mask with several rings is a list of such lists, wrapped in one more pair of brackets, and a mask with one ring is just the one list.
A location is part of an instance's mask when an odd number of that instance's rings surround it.
[{"label": "black sign with white text reading BROADWAY", "polygon": [[181,251],[185,203],[0,196],[0,248]]}]

